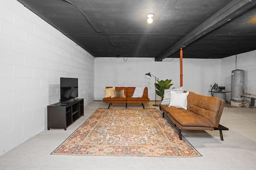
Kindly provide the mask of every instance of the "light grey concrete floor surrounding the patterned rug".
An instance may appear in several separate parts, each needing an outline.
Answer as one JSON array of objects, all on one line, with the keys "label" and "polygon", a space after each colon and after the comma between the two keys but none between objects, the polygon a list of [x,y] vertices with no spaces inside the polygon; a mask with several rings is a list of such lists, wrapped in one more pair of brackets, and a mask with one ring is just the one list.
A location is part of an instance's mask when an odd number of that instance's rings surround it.
[{"label": "light grey concrete floor surrounding the patterned rug", "polygon": [[[154,102],[145,104],[152,106]],[[0,170],[255,170],[256,169],[256,108],[224,107],[220,124],[223,131],[182,131],[182,135],[203,156],[160,158],[147,156],[68,156],[51,155],[98,107],[108,107],[94,101],[84,107],[80,117],[66,131],[43,131],[18,147],[0,156]],[[111,107],[125,107],[113,104]],[[141,105],[128,104],[128,107]],[[156,107],[159,109],[159,107]]]}]

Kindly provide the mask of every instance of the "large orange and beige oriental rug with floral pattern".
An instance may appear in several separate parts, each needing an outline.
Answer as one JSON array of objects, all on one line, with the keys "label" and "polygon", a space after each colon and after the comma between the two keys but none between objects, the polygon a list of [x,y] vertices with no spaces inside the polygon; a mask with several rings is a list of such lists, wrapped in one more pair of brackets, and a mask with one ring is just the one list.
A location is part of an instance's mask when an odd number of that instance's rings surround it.
[{"label": "large orange and beige oriental rug with floral pattern", "polygon": [[98,108],[51,154],[202,156],[156,108]]}]

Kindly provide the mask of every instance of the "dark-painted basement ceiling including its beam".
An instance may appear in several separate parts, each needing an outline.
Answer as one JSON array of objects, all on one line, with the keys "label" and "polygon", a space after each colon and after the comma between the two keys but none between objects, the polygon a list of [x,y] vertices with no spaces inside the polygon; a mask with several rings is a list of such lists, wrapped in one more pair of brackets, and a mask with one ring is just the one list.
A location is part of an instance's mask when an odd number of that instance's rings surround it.
[{"label": "dark-painted basement ceiling including its beam", "polygon": [[[256,0],[18,0],[94,57],[216,59],[256,50]],[[147,23],[147,14],[154,14]]]}]

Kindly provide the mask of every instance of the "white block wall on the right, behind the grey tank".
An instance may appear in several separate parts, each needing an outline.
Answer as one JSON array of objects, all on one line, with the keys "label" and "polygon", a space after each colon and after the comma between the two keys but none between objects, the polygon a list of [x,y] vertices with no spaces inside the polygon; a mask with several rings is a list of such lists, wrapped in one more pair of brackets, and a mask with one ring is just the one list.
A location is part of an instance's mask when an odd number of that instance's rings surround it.
[{"label": "white block wall on the right, behind the grey tank", "polygon": [[[226,86],[226,92],[231,90],[231,72],[232,70],[244,70],[244,92],[250,102],[250,98],[256,98],[256,51],[242,53],[221,59],[221,82]],[[230,94],[226,93],[226,100],[230,102]]]}]

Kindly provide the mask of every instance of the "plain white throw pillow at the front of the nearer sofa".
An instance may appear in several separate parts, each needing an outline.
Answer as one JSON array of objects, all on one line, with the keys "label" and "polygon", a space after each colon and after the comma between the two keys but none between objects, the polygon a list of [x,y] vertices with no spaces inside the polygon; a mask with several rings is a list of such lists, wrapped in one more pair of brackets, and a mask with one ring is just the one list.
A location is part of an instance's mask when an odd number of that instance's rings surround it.
[{"label": "plain white throw pillow at the front of the nearer sofa", "polygon": [[172,91],[169,107],[180,107],[182,109],[187,109],[188,93],[189,92],[176,93],[176,92]]}]

